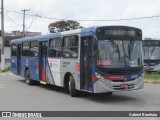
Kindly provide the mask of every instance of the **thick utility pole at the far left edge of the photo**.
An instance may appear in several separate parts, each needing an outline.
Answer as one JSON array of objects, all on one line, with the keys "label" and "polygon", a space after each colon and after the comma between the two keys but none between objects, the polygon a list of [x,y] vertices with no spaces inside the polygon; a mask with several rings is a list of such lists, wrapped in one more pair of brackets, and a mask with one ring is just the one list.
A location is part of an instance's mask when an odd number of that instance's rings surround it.
[{"label": "thick utility pole at the far left edge of the photo", "polygon": [[1,36],[2,36],[2,45],[1,45],[1,70],[5,70],[5,56],[4,56],[4,8],[3,0],[1,0]]}]

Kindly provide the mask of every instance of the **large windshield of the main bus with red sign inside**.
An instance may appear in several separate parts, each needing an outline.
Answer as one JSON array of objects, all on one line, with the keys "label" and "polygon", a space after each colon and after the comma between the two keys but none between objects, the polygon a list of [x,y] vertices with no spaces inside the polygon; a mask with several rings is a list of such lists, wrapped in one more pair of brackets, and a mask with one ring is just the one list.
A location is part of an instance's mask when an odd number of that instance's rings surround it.
[{"label": "large windshield of the main bus with red sign inside", "polygon": [[103,68],[141,67],[141,54],[141,41],[99,40],[97,66]]}]

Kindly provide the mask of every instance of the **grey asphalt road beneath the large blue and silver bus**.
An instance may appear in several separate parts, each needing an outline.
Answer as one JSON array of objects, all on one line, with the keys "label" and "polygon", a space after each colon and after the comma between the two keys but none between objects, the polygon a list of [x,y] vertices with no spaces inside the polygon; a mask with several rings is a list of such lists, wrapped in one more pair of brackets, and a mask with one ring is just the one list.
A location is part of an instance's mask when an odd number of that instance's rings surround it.
[{"label": "grey asphalt road beneath the large blue and silver bus", "polygon": [[78,97],[70,97],[62,88],[29,86],[24,78],[0,73],[0,111],[41,110],[160,111],[160,84],[145,84],[142,90],[113,95],[81,93]]}]

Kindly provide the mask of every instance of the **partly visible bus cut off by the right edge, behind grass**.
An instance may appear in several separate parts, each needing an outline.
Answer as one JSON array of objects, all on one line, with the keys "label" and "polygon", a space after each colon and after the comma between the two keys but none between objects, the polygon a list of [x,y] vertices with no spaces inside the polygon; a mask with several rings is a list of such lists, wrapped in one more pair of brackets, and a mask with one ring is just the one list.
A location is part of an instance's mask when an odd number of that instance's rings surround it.
[{"label": "partly visible bus cut off by the right edge, behind grass", "polygon": [[160,72],[160,40],[143,40],[144,70]]}]

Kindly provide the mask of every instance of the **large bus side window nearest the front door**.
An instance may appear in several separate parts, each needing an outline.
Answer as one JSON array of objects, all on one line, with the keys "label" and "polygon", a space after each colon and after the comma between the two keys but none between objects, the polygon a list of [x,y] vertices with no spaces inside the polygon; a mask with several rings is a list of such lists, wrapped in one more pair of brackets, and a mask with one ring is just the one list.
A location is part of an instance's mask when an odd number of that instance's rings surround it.
[{"label": "large bus side window nearest the front door", "polygon": [[63,39],[63,57],[77,58],[78,57],[78,36],[67,36]]}]

